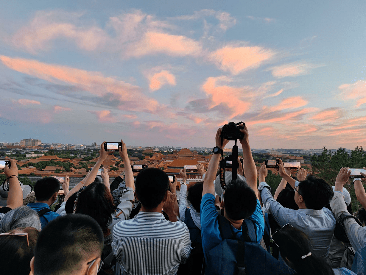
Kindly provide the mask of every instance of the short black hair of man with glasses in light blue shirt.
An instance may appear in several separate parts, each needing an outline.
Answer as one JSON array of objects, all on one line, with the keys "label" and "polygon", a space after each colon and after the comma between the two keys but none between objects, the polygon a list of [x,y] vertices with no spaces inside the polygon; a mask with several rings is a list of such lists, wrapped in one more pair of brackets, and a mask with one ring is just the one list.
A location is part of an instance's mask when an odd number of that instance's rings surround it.
[{"label": "short black hair of man with glasses in light blue shirt", "polygon": [[320,210],[333,199],[332,186],[314,175],[299,182],[299,193],[303,197],[305,206],[309,209]]}]

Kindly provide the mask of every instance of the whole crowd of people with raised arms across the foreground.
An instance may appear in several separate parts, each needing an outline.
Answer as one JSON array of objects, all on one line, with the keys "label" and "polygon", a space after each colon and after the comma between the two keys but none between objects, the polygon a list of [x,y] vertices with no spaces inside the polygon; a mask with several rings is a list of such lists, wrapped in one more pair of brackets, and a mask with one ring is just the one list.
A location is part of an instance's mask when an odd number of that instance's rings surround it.
[{"label": "whole crowd of people with raised arms across the foreground", "polygon": [[[112,153],[102,143],[93,169],[70,191],[66,177],[64,201],[56,212],[50,207],[58,199],[60,182],[41,178],[33,198],[23,200],[16,162],[7,158],[3,185],[8,199],[0,208],[1,273],[366,274],[366,227],[357,218],[365,210],[356,217],[349,207],[350,194],[343,188],[348,167],[340,169],[332,187],[300,167],[286,170],[280,161],[282,180],[272,196],[265,165],[258,185],[245,125],[239,139],[243,165],[218,172],[228,143],[221,131],[207,171],[197,165],[203,183],[189,186],[182,169],[178,197],[177,182],[161,169],[143,169],[134,178],[122,140],[125,174],[112,184],[106,169],[102,179],[97,176]],[[365,208],[361,178],[353,184]]]}]

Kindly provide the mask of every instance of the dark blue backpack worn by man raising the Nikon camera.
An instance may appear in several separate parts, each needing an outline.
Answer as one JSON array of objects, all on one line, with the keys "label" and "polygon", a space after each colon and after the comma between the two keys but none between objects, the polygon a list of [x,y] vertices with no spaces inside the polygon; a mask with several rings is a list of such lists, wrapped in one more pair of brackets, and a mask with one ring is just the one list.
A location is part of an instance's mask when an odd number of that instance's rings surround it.
[{"label": "dark blue backpack worn by man raising the Nikon camera", "polygon": [[218,222],[223,241],[208,251],[205,274],[280,274],[280,262],[258,244],[253,221],[244,219],[239,240],[226,218]]}]

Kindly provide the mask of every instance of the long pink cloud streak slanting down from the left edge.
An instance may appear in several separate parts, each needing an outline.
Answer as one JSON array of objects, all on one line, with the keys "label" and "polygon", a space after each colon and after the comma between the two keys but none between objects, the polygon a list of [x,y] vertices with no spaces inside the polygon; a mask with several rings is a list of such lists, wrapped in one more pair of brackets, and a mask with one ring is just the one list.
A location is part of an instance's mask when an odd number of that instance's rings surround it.
[{"label": "long pink cloud streak slanting down from the left edge", "polygon": [[120,101],[121,110],[139,112],[157,112],[163,106],[155,99],[143,95],[137,86],[133,86],[113,77],[105,77],[100,72],[46,64],[37,60],[0,56],[5,66],[23,74],[35,76],[53,83],[64,82],[75,85],[83,91],[109,101]]}]

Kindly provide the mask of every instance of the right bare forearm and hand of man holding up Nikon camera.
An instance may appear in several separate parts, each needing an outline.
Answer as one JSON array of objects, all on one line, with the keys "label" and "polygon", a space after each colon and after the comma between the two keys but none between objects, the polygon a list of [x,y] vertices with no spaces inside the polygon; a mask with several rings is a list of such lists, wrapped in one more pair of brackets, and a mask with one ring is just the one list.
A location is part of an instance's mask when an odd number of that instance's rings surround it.
[{"label": "right bare forearm and hand of man holding up Nikon camera", "polygon": [[254,190],[255,196],[258,197],[258,189],[257,189],[257,167],[255,166],[253,156],[251,154],[250,145],[249,145],[249,132],[246,126],[244,126],[243,130],[240,132],[244,133],[243,139],[240,139],[239,142],[243,147],[243,165],[244,165],[244,174],[247,181],[247,184]]}]

